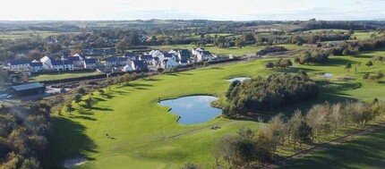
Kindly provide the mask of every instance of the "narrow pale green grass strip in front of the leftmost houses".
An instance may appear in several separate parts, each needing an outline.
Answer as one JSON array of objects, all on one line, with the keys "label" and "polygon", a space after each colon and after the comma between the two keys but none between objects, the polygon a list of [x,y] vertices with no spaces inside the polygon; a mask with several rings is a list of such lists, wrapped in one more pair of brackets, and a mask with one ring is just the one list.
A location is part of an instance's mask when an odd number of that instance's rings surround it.
[{"label": "narrow pale green grass strip in front of the leftmost houses", "polygon": [[80,78],[84,76],[98,75],[99,72],[61,72],[60,74],[39,74],[30,77],[30,81],[63,80],[68,78]]}]

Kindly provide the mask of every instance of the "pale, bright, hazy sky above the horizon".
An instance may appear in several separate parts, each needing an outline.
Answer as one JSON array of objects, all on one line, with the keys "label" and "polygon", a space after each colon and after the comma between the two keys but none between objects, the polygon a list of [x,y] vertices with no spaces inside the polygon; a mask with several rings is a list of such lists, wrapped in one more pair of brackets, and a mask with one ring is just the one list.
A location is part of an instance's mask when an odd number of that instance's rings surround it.
[{"label": "pale, bright, hazy sky above the horizon", "polygon": [[0,20],[372,20],[385,0],[4,0]]}]

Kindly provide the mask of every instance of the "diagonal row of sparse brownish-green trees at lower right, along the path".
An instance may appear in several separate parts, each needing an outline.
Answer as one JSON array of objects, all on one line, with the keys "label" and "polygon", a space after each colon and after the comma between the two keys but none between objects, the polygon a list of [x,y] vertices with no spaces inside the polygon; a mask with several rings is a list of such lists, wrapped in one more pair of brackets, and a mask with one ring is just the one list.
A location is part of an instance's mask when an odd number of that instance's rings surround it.
[{"label": "diagonal row of sparse brownish-green trees at lower right, along the path", "polygon": [[296,110],[291,117],[272,117],[258,132],[241,129],[236,135],[219,139],[214,149],[217,165],[252,168],[274,160],[279,148],[302,148],[304,144],[321,143],[328,136],[349,127],[363,126],[385,114],[385,102],[371,104],[346,101],[314,105],[305,114]]}]

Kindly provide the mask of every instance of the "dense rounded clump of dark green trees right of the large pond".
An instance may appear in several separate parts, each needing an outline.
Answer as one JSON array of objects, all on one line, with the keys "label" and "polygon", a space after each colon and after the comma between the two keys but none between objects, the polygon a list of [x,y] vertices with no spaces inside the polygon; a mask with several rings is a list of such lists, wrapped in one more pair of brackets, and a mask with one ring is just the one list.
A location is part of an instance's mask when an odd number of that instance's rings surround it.
[{"label": "dense rounded clump of dark green trees right of the large pond", "polygon": [[271,110],[304,99],[317,97],[319,86],[305,73],[278,73],[268,78],[234,81],[227,89],[228,117]]}]

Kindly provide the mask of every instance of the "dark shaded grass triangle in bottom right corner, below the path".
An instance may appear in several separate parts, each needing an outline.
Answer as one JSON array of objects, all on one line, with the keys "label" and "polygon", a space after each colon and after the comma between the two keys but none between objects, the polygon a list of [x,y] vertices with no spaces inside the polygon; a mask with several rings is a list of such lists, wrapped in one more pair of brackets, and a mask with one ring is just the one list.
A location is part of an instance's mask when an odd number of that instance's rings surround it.
[{"label": "dark shaded grass triangle in bottom right corner, below the path", "polygon": [[385,129],[360,136],[347,143],[291,160],[281,168],[383,168],[385,166]]}]

